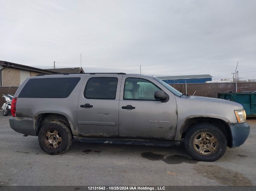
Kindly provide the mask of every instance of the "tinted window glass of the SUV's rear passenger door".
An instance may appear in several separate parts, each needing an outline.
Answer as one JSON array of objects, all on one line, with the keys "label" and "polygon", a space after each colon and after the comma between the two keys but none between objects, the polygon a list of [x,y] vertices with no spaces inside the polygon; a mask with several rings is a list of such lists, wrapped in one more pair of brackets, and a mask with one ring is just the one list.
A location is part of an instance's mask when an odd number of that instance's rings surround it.
[{"label": "tinted window glass of the SUV's rear passenger door", "polygon": [[85,86],[84,96],[87,99],[115,100],[117,78],[90,78]]}]

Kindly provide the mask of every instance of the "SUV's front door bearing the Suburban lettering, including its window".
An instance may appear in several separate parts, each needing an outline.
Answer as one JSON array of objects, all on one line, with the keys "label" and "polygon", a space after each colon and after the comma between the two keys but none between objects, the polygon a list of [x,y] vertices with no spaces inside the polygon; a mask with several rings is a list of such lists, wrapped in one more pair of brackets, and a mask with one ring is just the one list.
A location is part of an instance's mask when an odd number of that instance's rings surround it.
[{"label": "SUV's front door bearing the Suburban lettering, including its window", "polygon": [[[119,102],[119,137],[174,140],[177,127],[175,96],[150,77],[123,75]],[[158,85],[156,85],[158,84]],[[169,100],[154,97],[163,90]]]}]

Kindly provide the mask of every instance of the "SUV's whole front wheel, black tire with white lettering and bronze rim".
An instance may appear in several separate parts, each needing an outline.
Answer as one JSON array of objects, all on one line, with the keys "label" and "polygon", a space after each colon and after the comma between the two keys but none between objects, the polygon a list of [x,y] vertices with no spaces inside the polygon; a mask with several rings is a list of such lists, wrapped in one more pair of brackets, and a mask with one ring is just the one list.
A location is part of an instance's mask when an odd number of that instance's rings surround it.
[{"label": "SUV's whole front wheel, black tire with white lettering and bronze rim", "polygon": [[188,129],[184,143],[188,153],[198,161],[216,161],[227,148],[223,132],[210,123],[198,123]]}]

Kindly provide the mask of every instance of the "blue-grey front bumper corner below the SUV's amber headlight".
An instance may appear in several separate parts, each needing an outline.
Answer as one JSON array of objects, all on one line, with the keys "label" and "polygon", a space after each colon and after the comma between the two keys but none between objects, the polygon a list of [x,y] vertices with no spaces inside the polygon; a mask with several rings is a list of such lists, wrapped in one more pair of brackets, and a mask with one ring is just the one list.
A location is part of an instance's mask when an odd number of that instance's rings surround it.
[{"label": "blue-grey front bumper corner below the SUV's amber headlight", "polygon": [[250,125],[248,123],[234,123],[229,124],[229,127],[232,135],[231,147],[234,148],[244,144],[250,133]]}]

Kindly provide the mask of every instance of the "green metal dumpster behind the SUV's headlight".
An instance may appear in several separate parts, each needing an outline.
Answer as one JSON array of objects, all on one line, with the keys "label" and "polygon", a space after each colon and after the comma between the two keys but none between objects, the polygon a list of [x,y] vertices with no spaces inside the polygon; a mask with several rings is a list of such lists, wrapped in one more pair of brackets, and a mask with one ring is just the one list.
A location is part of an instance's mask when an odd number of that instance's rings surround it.
[{"label": "green metal dumpster behind the SUV's headlight", "polygon": [[256,116],[256,92],[218,93],[218,98],[240,103],[246,116]]}]

